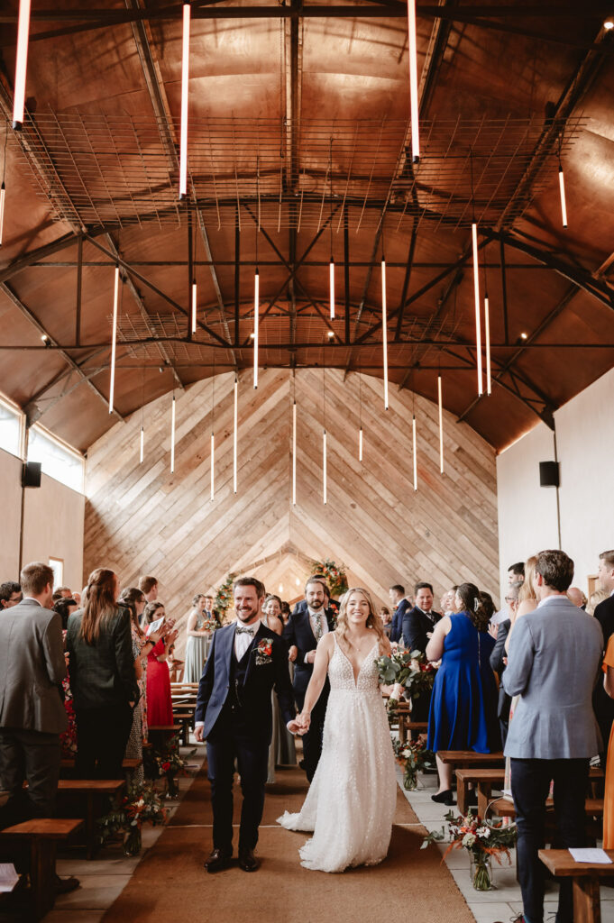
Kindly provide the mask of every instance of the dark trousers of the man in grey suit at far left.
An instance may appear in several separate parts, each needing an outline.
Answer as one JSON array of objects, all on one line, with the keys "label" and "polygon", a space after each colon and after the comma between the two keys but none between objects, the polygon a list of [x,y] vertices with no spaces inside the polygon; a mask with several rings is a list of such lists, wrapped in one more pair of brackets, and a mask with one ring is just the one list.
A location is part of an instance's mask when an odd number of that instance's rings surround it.
[{"label": "dark trousers of the man in grey suit at far left", "polygon": [[53,817],[60,759],[59,734],[0,728],[0,778],[9,793],[0,809],[0,829],[32,818]]}]

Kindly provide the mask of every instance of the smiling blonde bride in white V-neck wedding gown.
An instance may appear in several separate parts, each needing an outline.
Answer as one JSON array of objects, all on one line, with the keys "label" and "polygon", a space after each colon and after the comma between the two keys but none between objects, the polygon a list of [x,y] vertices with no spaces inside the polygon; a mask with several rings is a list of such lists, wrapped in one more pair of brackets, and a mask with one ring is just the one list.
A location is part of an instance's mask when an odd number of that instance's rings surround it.
[{"label": "smiling blonde bride in white V-neck wedding gown", "polygon": [[306,869],[376,865],[388,853],[396,774],[375,660],[390,650],[367,591],[348,590],[337,628],[319,641],[296,719],[299,733],[305,733],[328,671],[331,695],[318,769],[300,813],[286,811],[278,819],[288,830],[313,831],[300,849]]}]

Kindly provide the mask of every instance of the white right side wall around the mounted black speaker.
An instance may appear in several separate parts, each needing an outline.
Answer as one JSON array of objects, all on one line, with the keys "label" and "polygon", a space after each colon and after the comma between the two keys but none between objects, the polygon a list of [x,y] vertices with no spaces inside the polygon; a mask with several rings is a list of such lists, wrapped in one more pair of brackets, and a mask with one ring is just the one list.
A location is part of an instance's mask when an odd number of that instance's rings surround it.
[{"label": "white right side wall around the mounted black speaker", "polygon": [[[555,414],[560,462],[560,533],[586,593],[599,552],[614,547],[614,369]],[[507,569],[559,546],[554,487],[539,486],[539,462],[554,461],[553,434],[538,423],[497,458],[501,587]]]}]

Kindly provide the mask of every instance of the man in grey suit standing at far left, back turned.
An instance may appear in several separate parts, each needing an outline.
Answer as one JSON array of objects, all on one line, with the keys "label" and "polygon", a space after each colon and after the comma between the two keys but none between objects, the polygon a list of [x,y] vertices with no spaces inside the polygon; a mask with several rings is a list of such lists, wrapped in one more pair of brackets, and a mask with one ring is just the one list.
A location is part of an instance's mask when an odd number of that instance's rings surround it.
[{"label": "man in grey suit standing at far left, back turned", "polygon": [[54,571],[28,564],[20,583],[22,601],[0,618],[0,777],[9,792],[0,828],[53,815],[67,725],[62,618],[51,608]]}]

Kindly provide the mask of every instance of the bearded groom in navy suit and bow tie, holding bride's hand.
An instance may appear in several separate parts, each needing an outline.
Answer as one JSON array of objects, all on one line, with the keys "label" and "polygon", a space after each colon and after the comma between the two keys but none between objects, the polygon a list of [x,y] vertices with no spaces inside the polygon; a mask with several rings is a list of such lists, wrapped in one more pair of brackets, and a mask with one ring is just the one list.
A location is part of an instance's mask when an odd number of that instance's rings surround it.
[{"label": "bearded groom in navy suit and bow tie, holding bride's hand", "polygon": [[273,686],[288,730],[299,730],[285,645],[260,622],[264,586],[242,577],[233,593],[236,622],[213,634],[196,706],[195,737],[207,740],[213,807],[213,851],[204,864],[209,872],[225,869],[233,855],[235,760],[243,792],[239,866],[259,869],[254,849],[264,808]]}]

